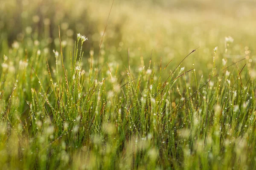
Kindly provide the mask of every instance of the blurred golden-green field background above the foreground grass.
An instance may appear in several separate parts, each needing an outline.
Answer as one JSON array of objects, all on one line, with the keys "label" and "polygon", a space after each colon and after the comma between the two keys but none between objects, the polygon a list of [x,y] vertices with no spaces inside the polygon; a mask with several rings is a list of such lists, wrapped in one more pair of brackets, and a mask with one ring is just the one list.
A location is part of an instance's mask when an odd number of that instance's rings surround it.
[{"label": "blurred golden-green field background above the foreground grass", "polygon": [[[29,46],[32,49],[33,45],[38,45],[38,41],[42,51],[58,50],[60,25],[67,52],[64,56],[69,57],[76,33],[80,32],[88,37],[84,44],[85,59],[93,50],[94,54],[100,54],[99,64],[127,65],[129,48],[131,68],[135,72],[140,67],[141,57],[148,65],[151,51],[156,67],[160,66],[161,58],[163,65],[173,59],[170,65],[175,66],[199,46],[198,52],[183,66],[195,67],[200,76],[209,74],[215,46],[218,46],[217,63],[221,64],[222,58],[231,63],[246,57],[249,70],[254,66],[254,0],[115,0],[107,23],[112,2],[1,0],[0,54],[8,55],[6,46],[11,46],[14,41],[25,42],[28,50]],[[108,26],[99,53],[106,23]],[[225,37],[228,36],[233,37],[234,42],[225,51]]]}]

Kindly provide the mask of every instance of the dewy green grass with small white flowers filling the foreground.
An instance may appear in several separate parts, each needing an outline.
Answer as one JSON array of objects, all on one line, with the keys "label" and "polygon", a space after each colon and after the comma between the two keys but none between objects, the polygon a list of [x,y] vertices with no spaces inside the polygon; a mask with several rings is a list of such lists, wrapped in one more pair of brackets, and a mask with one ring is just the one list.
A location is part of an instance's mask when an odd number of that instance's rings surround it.
[{"label": "dewy green grass with small white flowers filling the foreground", "polygon": [[[232,43],[227,38],[227,44]],[[61,43],[61,37],[59,37]],[[0,153],[11,169],[243,169],[255,165],[255,87],[244,59],[195,68],[99,65],[14,42],[1,69]],[[47,48],[45,48],[47,49]],[[44,51],[44,52],[41,52]],[[226,46],[227,52],[227,46]],[[48,62],[48,57],[55,62]],[[98,59],[100,59],[99,56]],[[129,57],[129,56],[128,56]],[[52,60],[52,59],[51,59]],[[181,60],[181,59],[179,59]],[[236,68],[236,67],[237,68]],[[125,72],[125,74],[123,74]],[[163,74],[168,74],[163,76]],[[243,77],[243,79],[241,78]]]}]

